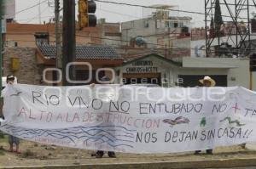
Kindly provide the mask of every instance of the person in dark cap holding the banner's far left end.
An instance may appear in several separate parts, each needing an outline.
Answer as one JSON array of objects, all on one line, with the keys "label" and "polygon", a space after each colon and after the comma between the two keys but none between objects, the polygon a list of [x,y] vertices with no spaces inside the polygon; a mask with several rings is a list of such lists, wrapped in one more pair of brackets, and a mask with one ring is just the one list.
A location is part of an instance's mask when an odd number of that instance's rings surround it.
[{"label": "person in dark cap holding the banner's far left end", "polygon": [[[7,84],[12,85],[12,84],[14,84],[14,82],[15,82],[15,76],[8,75],[6,77],[6,83]],[[5,94],[5,90],[3,89],[2,90],[1,98],[3,98],[4,94]],[[2,117],[4,119],[4,116],[3,116],[3,103],[1,103],[1,115],[2,115]],[[20,154],[20,150],[19,150],[20,139],[16,138],[15,136],[9,135],[9,151],[10,152],[14,152],[14,144],[16,145],[15,152]]]}]

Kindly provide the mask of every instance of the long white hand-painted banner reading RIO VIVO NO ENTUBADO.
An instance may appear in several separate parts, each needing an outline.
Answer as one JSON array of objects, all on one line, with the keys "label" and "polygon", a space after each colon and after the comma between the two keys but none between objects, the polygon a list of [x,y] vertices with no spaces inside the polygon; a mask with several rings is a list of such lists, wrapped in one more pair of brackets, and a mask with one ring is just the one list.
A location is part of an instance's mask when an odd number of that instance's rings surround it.
[{"label": "long white hand-painted banner reading RIO VIVO NO ENTUBADO", "polygon": [[171,153],[256,141],[256,93],[243,87],[9,85],[0,129],[78,149]]}]

